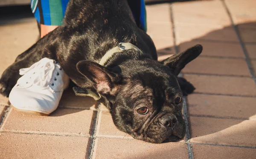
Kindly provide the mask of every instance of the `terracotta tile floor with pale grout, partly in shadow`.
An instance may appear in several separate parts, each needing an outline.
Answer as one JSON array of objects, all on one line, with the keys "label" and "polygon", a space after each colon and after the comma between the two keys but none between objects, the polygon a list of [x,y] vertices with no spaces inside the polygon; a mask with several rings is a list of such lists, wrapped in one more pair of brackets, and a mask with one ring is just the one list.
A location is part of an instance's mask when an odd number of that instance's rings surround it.
[{"label": "terracotta tile floor with pale grout, partly in shadow", "polygon": [[[255,159],[255,0],[204,0],[146,6],[148,34],[163,60],[201,43],[183,70],[197,88],[183,105],[186,137],[151,144],[114,126],[92,98],[64,92],[50,116],[31,116],[0,96],[1,159]],[[0,75],[38,39],[35,19],[0,17]]]}]

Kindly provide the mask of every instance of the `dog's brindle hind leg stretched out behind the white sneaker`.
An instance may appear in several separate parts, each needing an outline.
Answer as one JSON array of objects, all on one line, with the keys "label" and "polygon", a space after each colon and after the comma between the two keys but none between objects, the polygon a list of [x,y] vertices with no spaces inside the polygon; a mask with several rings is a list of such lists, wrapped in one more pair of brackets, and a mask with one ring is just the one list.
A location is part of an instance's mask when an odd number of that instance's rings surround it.
[{"label": "dog's brindle hind leg stretched out behind the white sneaker", "polygon": [[[54,35],[57,33],[51,32],[51,34]],[[17,80],[21,77],[19,74],[21,68],[29,67],[42,58],[55,59],[56,40],[53,37],[54,36],[47,35],[45,38],[38,40],[38,42],[28,50],[17,56],[15,62],[3,72],[0,78],[0,94],[7,97],[9,96]]]}]

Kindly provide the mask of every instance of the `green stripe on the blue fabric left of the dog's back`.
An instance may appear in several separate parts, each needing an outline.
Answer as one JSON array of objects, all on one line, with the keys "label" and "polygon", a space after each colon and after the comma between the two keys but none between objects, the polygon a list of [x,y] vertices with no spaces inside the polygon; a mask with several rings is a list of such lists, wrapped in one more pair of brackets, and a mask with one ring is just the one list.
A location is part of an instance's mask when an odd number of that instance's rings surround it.
[{"label": "green stripe on the blue fabric left of the dog's back", "polygon": [[63,20],[61,0],[49,0],[52,26],[60,26]]}]

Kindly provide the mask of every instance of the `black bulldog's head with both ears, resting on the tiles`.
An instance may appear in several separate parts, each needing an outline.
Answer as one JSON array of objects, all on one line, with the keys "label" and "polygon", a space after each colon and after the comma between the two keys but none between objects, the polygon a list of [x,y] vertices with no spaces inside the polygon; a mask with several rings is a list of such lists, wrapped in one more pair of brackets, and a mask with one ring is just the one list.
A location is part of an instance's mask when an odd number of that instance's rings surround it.
[{"label": "black bulldog's head with both ears, resting on the tiles", "polygon": [[119,130],[146,142],[171,142],[186,131],[177,75],[201,52],[195,45],[162,62],[128,60],[109,69],[80,61],[77,69],[102,95]]}]

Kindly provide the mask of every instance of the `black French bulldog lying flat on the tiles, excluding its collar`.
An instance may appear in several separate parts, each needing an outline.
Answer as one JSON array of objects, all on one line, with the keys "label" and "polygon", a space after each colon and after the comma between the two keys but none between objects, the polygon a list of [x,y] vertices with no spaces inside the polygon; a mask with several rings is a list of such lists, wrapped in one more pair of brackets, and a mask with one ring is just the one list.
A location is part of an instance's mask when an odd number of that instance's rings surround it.
[{"label": "black French bulldog lying flat on the tiles, excluding its collar", "polygon": [[[126,49],[99,65],[120,42],[141,51]],[[172,142],[185,136],[182,96],[195,89],[177,75],[201,52],[195,45],[158,62],[153,41],[136,25],[126,0],[70,0],[64,24],[3,72],[0,93],[9,96],[20,68],[55,59],[77,86],[101,95],[119,130],[146,142]]]}]

